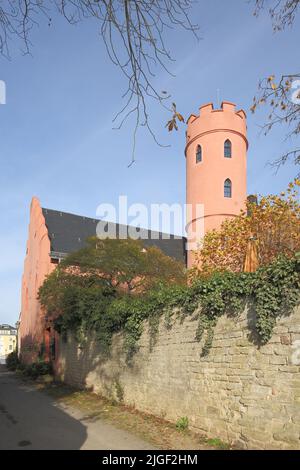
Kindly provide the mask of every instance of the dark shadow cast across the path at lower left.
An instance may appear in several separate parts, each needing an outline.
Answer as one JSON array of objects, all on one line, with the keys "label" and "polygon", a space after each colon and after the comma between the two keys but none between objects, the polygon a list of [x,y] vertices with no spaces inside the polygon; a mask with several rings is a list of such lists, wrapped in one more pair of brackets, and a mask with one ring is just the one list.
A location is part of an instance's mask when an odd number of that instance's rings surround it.
[{"label": "dark shadow cast across the path at lower left", "polygon": [[80,449],[87,429],[0,365],[0,449]]}]

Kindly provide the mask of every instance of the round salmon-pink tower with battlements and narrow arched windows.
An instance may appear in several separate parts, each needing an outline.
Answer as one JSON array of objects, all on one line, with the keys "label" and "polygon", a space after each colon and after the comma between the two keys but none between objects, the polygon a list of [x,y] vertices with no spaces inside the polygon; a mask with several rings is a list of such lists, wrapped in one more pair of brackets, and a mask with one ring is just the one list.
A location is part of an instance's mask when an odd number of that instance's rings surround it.
[{"label": "round salmon-pink tower with battlements and narrow arched windows", "polygon": [[186,133],[187,263],[193,264],[193,250],[224,219],[245,209],[247,125],[243,110],[223,101],[200,107],[191,115]]}]

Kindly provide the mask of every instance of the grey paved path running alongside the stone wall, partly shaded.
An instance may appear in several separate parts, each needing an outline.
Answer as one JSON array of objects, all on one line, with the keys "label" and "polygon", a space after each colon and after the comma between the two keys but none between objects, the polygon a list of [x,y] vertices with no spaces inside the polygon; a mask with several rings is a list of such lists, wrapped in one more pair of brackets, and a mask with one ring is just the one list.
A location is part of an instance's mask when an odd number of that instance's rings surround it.
[{"label": "grey paved path running alongside the stone wall, partly shaded", "polygon": [[21,382],[0,365],[0,450],[153,449],[132,434],[77,410]]}]

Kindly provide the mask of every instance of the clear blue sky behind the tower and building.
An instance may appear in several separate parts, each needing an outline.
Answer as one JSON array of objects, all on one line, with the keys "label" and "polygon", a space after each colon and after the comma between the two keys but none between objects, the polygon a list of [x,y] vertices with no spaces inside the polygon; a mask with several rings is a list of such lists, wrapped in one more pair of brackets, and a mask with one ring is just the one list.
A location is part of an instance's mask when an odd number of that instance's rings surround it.
[{"label": "clear blue sky behind the tower and building", "polygon": [[[192,18],[202,39],[170,31],[166,41],[176,62],[175,78],[158,71],[158,89],[168,90],[188,116],[206,102],[236,102],[249,111],[258,80],[295,72],[299,66],[299,20],[273,34],[267,15],[254,18],[252,4],[240,0],[200,1]],[[179,34],[180,33],[180,34]],[[130,169],[133,122],[120,131],[112,119],[120,109],[126,82],[109,62],[93,22],[68,25],[54,18],[31,36],[31,55],[12,48],[0,58],[7,104],[0,106],[1,265],[0,323],[14,323],[33,195],[44,207],[94,217],[97,206],[129,203],[184,203],[184,128],[168,134],[168,115],[155,103],[149,111],[156,134],[170,147],[158,147],[142,129],[137,163]],[[278,193],[295,175],[286,165],[277,175],[267,166],[292,143],[284,129],[261,135],[266,110],[248,112],[248,193]],[[213,183],[212,183],[213,191]]]}]

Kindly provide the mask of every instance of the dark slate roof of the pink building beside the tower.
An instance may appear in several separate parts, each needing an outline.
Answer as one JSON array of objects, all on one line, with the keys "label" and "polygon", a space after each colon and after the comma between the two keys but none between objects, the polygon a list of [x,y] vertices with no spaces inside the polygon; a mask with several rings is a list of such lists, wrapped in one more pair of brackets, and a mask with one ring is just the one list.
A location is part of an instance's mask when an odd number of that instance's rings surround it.
[{"label": "dark slate roof of the pink building beside the tower", "polygon": [[[45,217],[48,235],[51,242],[51,253],[53,257],[61,257],[83,248],[89,237],[96,236],[98,219],[91,219],[67,212],[60,212],[53,209],[42,209]],[[118,234],[123,229],[128,234],[128,226],[107,222],[109,229],[115,229]],[[123,233],[124,233],[123,232]],[[176,235],[169,235],[161,232],[154,232],[156,239],[150,238],[150,230],[140,229],[142,241],[145,246],[156,246],[166,255],[178,261],[186,263],[186,239]],[[145,239],[145,236],[148,238]]]}]

